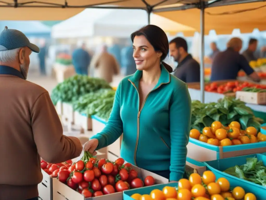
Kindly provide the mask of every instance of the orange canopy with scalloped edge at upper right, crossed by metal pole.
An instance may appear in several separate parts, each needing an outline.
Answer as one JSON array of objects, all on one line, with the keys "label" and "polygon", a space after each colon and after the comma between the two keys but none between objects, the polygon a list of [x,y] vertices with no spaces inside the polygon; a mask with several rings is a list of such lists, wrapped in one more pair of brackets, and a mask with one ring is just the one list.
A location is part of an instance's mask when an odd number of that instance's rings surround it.
[{"label": "orange canopy with scalloped edge at upper right, crossed by metal pole", "polygon": [[[200,31],[200,9],[156,12],[156,14]],[[205,9],[205,33],[209,33],[212,29],[217,34],[231,34],[234,29],[240,29],[241,33],[251,33],[255,28],[264,31],[265,19],[265,2],[209,7]]]}]

